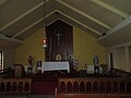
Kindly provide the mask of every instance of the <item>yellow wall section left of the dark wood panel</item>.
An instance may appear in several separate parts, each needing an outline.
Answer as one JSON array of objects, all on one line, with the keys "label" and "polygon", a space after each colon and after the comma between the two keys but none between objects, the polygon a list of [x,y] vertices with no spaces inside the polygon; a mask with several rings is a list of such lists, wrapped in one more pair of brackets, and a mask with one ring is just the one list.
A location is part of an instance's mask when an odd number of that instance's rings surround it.
[{"label": "yellow wall section left of the dark wood panel", "polygon": [[15,63],[27,65],[28,56],[33,56],[33,64],[36,65],[37,61],[45,60],[45,52],[41,47],[41,40],[44,38],[43,29],[37,30],[31,35],[23,45],[21,45],[15,51]]}]

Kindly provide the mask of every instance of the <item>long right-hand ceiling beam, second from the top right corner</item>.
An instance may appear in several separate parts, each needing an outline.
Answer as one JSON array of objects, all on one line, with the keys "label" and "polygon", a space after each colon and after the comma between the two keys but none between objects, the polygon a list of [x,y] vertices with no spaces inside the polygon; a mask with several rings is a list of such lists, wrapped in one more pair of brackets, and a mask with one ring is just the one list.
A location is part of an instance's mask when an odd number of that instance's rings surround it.
[{"label": "long right-hand ceiling beam, second from the top right corner", "polygon": [[63,5],[66,5],[67,8],[73,10],[73,11],[76,12],[76,13],[79,13],[79,14],[81,14],[81,15],[87,17],[88,20],[91,20],[91,21],[93,21],[93,22],[95,22],[95,23],[97,23],[97,24],[99,24],[99,25],[102,25],[102,26],[104,26],[104,27],[106,27],[106,28],[108,28],[108,29],[111,29],[111,27],[110,27],[109,25],[107,25],[107,24],[105,24],[105,23],[103,23],[103,22],[96,20],[95,17],[93,17],[93,16],[91,16],[91,15],[88,15],[88,14],[83,13],[82,11],[80,11],[80,10],[78,10],[78,9],[75,9],[75,8],[71,7],[71,5],[69,5],[68,3],[66,3],[66,2],[63,2],[63,1],[61,1],[61,0],[57,0],[57,2],[59,2],[59,3],[63,4]]}]

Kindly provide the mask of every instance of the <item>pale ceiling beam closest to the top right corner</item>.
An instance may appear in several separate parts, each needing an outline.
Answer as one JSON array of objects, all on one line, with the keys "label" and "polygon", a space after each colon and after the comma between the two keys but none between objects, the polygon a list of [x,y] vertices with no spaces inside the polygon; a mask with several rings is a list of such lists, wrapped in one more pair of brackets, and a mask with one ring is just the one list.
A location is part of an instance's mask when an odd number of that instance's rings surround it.
[{"label": "pale ceiling beam closest to the top right corner", "polygon": [[102,5],[103,8],[108,9],[109,11],[111,11],[111,12],[114,12],[114,13],[116,13],[116,14],[124,17],[124,19],[127,19],[127,17],[130,16],[129,14],[127,14],[127,13],[124,13],[124,12],[122,12],[122,11],[120,11],[120,10],[118,10],[118,9],[116,9],[116,8],[107,4],[107,3],[104,3],[104,2],[100,1],[100,0],[91,0],[91,1],[94,2],[94,3],[97,3],[97,4],[99,4],[99,5]]}]

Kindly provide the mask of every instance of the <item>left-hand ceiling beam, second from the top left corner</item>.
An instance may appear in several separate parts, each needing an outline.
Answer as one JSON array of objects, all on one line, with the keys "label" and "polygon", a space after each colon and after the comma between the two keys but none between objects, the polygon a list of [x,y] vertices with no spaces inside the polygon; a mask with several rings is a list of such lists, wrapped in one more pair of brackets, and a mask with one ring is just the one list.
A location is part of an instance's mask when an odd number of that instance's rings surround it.
[{"label": "left-hand ceiling beam, second from the top left corner", "polygon": [[46,17],[50,16],[51,14],[53,14],[56,11],[52,11],[50,13],[48,13],[46,16],[39,19],[38,21],[36,21],[35,23],[31,24],[29,26],[27,26],[26,28],[22,29],[20,33],[17,33],[16,35],[14,35],[12,38],[15,38],[16,36],[23,34],[24,32],[26,32],[27,29],[29,29],[31,27],[35,26],[36,24],[40,23],[41,21],[44,21]]}]

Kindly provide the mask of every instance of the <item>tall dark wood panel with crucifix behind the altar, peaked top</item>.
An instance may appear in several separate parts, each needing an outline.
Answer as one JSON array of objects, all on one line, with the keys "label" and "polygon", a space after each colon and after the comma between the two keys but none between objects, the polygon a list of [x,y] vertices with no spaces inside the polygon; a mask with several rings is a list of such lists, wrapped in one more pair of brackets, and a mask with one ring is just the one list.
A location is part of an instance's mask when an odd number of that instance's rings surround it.
[{"label": "tall dark wood panel with crucifix behind the altar, peaked top", "polygon": [[60,20],[53,22],[46,28],[47,49],[46,61],[70,60],[73,56],[73,27]]}]

